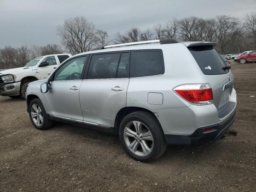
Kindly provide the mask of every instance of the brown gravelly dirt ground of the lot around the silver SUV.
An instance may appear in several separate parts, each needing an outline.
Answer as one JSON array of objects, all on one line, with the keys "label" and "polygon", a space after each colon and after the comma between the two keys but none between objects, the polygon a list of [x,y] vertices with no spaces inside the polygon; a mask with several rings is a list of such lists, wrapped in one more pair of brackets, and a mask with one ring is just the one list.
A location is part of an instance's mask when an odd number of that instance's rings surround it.
[{"label": "brown gravelly dirt ground of the lot around the silver SUV", "polygon": [[36,130],[26,102],[0,96],[0,191],[256,191],[256,64],[233,64],[238,108],[230,136],[168,147],[146,164],[115,136],[63,123]]}]

